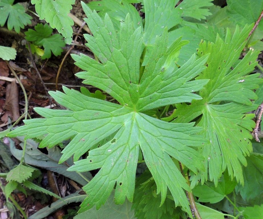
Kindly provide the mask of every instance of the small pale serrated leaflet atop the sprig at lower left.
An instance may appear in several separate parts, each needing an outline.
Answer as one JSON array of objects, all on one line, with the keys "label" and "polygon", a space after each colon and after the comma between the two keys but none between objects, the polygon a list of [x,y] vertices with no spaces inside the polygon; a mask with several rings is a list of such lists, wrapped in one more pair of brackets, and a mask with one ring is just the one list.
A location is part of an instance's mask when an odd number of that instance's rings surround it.
[{"label": "small pale serrated leaflet atop the sprig at lower left", "polygon": [[6,180],[8,182],[16,181],[16,182],[21,183],[27,180],[29,177],[31,177],[33,171],[35,171],[34,168],[26,167],[22,164],[19,164],[13,170],[9,171],[9,173],[7,174]]}]

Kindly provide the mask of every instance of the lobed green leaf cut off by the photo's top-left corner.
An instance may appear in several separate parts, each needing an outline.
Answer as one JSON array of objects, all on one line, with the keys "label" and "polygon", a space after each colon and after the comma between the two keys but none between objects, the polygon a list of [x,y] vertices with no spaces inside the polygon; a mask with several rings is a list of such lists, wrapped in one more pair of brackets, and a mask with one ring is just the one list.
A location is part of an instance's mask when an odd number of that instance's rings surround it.
[{"label": "lobed green leaf cut off by the photo's top-left corner", "polygon": [[25,13],[25,8],[19,3],[13,5],[15,0],[1,0],[0,2],[0,25],[3,27],[7,21],[9,30],[15,29],[19,33],[20,28],[31,24],[32,17]]}]

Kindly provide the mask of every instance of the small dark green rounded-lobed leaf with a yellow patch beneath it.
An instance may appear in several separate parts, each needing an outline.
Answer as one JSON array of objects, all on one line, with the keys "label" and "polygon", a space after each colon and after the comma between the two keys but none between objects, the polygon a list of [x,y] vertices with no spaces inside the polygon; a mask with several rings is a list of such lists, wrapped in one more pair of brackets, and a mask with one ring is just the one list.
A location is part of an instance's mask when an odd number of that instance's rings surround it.
[{"label": "small dark green rounded-lobed leaf with a yellow patch beneath it", "polygon": [[44,47],[44,54],[41,56],[42,59],[50,58],[51,51],[55,56],[61,55],[65,46],[65,42],[62,40],[63,37],[60,34],[51,35],[53,29],[48,24],[37,24],[35,31],[29,29],[25,32],[25,39],[33,42],[37,46]]}]

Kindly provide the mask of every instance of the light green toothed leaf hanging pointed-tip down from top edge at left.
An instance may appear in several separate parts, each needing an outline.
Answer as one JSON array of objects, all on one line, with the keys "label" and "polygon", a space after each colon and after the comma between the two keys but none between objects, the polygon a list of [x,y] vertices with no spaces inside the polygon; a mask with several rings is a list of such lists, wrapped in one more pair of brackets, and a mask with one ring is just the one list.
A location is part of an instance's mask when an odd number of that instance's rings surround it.
[{"label": "light green toothed leaf hanging pointed-tip down from top edge at left", "polygon": [[67,44],[71,44],[73,33],[71,26],[74,22],[67,14],[70,13],[75,0],[31,0],[31,3],[35,5],[39,19],[45,19],[52,28],[56,28],[65,37]]}]

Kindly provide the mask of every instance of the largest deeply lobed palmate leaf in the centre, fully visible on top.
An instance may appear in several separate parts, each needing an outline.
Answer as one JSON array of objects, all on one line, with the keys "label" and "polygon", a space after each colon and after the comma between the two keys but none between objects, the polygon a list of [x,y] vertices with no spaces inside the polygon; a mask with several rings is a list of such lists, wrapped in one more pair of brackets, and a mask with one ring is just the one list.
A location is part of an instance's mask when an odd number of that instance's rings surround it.
[{"label": "largest deeply lobed palmate leaf in the centre, fully visible on top", "polygon": [[[140,75],[140,58],[143,34],[133,28],[129,14],[120,31],[116,32],[108,15],[102,20],[86,4],[86,22],[93,36],[86,35],[87,46],[100,59],[97,62],[85,55],[72,55],[76,65],[84,70],[76,74],[104,90],[120,105],[88,97],[78,91],[63,88],[65,93],[50,92],[50,95],[69,110],[35,108],[44,119],[25,120],[25,126],[9,133],[9,137],[25,135],[25,139],[46,135],[39,147],[52,147],[71,138],[62,151],[60,163],[74,154],[75,165],[70,171],[85,172],[101,168],[83,189],[88,197],[79,212],[96,205],[100,208],[116,186],[116,204],[124,203],[126,197],[133,200],[135,171],[139,149],[161,193],[163,204],[167,186],[176,205],[181,205],[191,215],[185,190],[190,190],[186,180],[176,167],[180,161],[194,173],[203,170],[203,156],[193,147],[207,144],[196,135],[201,127],[194,123],[167,123],[143,113],[167,104],[191,102],[201,97],[193,92],[202,89],[208,80],[193,80],[205,68],[208,55],[196,58],[193,55],[181,68],[174,59],[185,41],[176,40],[169,48],[167,28],[157,36],[148,64]],[[116,135],[106,144],[92,149],[86,159],[78,161],[93,145]],[[174,159],[172,159],[173,157]],[[178,160],[178,161],[177,161]],[[175,163],[174,163],[175,162]]]}]

